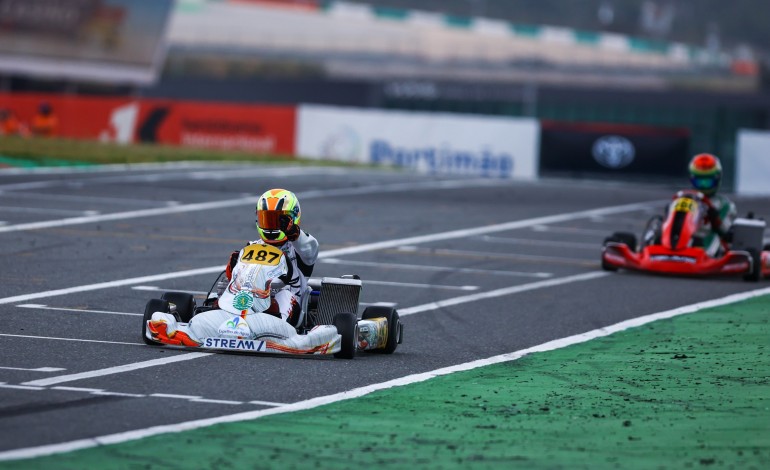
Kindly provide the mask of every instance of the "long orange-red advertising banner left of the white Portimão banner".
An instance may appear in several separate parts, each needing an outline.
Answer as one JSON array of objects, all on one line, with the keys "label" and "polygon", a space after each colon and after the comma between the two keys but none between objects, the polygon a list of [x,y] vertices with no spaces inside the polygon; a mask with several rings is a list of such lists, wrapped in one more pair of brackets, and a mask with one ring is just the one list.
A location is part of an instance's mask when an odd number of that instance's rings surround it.
[{"label": "long orange-red advertising banner left of the white Portim\u00e3o banner", "polygon": [[56,116],[54,135],[60,137],[295,153],[293,106],[0,93],[0,109],[27,125],[43,103]]}]

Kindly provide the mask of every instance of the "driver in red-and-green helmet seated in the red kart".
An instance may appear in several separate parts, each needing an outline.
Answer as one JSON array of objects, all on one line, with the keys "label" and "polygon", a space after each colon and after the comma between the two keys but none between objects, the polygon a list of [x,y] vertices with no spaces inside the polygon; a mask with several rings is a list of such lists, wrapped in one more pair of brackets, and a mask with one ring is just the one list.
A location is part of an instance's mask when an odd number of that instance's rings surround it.
[{"label": "driver in red-and-green helmet seated in the red kart", "polygon": [[724,243],[730,242],[730,227],[737,216],[735,204],[727,197],[717,194],[722,179],[722,164],[710,153],[695,155],[688,168],[690,183],[695,190],[703,193],[708,208],[706,223],[696,233],[696,240],[710,256],[717,256]]}]

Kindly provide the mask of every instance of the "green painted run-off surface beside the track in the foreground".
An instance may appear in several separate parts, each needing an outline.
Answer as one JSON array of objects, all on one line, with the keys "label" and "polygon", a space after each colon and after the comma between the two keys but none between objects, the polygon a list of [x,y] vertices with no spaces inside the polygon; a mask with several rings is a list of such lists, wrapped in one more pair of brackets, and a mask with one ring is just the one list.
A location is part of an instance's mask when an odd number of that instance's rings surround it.
[{"label": "green painted run-off surface beside the track in the foreground", "polygon": [[760,469],[768,462],[764,297],[312,410],[0,467]]}]

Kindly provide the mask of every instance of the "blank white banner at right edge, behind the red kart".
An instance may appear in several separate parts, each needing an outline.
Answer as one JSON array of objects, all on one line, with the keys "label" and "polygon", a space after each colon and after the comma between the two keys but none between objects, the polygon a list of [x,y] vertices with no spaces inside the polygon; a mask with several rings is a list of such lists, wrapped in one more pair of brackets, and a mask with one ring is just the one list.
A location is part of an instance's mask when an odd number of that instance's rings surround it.
[{"label": "blank white banner at right edge, behind the red kart", "polygon": [[735,191],[770,194],[770,132],[738,131],[735,159]]}]

